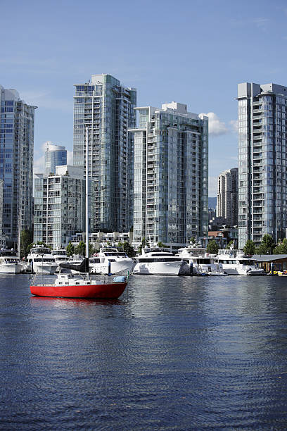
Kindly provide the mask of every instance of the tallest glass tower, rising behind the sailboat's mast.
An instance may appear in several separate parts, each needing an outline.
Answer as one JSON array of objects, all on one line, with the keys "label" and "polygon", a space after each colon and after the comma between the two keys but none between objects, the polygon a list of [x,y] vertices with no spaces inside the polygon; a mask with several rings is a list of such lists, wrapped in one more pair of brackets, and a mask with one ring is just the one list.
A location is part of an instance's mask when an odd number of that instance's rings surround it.
[{"label": "tallest glass tower, rising behind the sailboat's mast", "polygon": [[74,165],[86,169],[89,130],[89,177],[96,182],[96,231],[126,232],[132,227],[133,145],[136,89],[111,75],[91,75],[75,85]]}]

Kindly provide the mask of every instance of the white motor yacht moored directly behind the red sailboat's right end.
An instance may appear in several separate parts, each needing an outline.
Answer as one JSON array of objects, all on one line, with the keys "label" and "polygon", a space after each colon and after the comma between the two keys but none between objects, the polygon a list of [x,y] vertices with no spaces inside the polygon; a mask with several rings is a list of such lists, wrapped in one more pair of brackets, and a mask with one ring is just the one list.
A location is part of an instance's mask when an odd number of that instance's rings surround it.
[{"label": "white motor yacht moored directly behind the red sailboat's right end", "polygon": [[103,247],[96,256],[89,258],[91,274],[127,274],[133,267],[134,259],[114,247]]}]

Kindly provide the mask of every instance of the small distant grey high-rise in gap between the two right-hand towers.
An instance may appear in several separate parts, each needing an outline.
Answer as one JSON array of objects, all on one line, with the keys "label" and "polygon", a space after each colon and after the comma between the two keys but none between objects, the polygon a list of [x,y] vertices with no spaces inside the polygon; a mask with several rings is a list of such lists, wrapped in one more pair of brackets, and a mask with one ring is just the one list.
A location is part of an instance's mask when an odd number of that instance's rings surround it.
[{"label": "small distant grey high-rise in gap between the two right-hand towers", "polygon": [[238,168],[224,170],[217,179],[217,217],[229,227],[237,226]]}]

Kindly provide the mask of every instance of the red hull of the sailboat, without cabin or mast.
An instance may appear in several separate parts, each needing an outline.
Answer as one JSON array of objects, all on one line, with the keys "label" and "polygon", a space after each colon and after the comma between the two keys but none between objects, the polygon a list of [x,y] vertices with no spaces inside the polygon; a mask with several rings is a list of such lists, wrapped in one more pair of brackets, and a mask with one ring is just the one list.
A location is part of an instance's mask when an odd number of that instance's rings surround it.
[{"label": "red hull of the sailboat, without cabin or mast", "polygon": [[39,285],[30,286],[30,291],[35,296],[83,299],[117,299],[125,291],[126,286],[127,282],[102,285]]}]

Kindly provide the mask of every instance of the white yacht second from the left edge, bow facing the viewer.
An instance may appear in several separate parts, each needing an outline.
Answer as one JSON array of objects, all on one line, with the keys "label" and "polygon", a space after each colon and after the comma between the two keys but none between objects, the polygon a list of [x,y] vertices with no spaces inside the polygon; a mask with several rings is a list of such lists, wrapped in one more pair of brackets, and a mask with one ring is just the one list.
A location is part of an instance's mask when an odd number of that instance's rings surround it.
[{"label": "white yacht second from the left edge, bow facing the viewer", "polygon": [[27,272],[54,274],[57,267],[58,263],[56,263],[55,257],[51,254],[49,247],[32,246],[25,265]]}]

